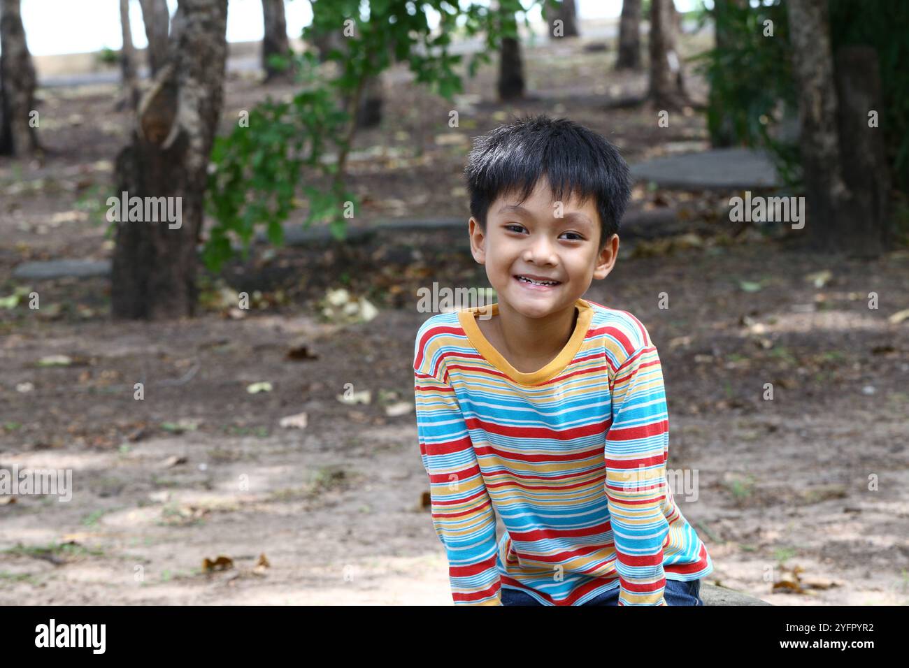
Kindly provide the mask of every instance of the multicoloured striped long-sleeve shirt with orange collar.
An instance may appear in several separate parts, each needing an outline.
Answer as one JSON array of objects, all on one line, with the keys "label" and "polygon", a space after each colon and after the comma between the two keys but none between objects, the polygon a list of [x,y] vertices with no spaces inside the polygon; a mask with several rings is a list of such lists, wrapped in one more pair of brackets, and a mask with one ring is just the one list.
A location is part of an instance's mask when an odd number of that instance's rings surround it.
[{"label": "multicoloured striped long-sleeve shirt with orange collar", "polygon": [[575,306],[568,343],[533,373],[486,340],[481,307],[435,314],[416,334],[420,454],[454,603],[499,605],[508,587],[579,605],[619,587],[620,605],[665,605],[665,578],[714,570],[666,481],[650,335],[626,311]]}]

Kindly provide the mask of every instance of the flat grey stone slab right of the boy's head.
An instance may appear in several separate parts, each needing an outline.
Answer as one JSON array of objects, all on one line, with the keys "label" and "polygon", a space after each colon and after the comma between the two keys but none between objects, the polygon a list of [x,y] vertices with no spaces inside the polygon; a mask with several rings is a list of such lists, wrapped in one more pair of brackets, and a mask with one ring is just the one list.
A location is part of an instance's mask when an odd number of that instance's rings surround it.
[{"label": "flat grey stone slab right of the boy's head", "polygon": [[640,181],[653,181],[664,188],[691,190],[747,190],[783,184],[770,156],[748,148],[666,155],[632,165],[631,173]]}]

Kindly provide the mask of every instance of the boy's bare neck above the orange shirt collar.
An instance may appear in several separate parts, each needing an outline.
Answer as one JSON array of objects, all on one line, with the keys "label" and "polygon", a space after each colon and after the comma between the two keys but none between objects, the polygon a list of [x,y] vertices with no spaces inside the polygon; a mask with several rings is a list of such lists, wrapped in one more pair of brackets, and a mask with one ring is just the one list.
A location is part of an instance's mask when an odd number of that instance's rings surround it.
[{"label": "boy's bare neck above the orange shirt collar", "polygon": [[528,318],[508,304],[499,302],[498,316],[487,323],[494,330],[497,343],[502,346],[499,352],[510,362],[532,363],[536,368],[529,371],[533,372],[552,362],[562,352],[574,332],[577,309],[571,304],[542,318]]}]

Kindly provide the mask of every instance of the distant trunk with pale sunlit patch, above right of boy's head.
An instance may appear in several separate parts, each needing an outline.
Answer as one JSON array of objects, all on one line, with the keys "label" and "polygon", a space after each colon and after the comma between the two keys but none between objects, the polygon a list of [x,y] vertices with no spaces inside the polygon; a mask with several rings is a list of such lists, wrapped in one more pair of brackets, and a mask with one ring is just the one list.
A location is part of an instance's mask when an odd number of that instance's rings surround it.
[{"label": "distant trunk with pale sunlit patch, above right of boy's head", "polygon": [[657,109],[679,109],[687,102],[682,85],[682,63],[675,48],[673,0],[651,0],[650,91]]}]

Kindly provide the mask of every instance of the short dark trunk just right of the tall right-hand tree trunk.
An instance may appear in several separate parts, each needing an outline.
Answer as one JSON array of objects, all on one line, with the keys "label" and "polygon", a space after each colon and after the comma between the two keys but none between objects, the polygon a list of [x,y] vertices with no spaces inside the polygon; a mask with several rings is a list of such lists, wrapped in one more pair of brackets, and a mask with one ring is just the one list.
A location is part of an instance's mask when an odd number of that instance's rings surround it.
[{"label": "short dark trunk just right of the tall right-hand tree trunk", "polygon": [[852,194],[845,221],[852,230],[850,250],[877,257],[893,243],[889,220],[890,165],[884,135],[869,126],[868,113],[883,108],[881,77],[874,47],[841,47],[836,53],[834,79],[839,102],[837,126],[843,160],[843,179]]}]

